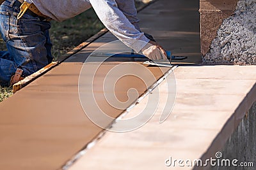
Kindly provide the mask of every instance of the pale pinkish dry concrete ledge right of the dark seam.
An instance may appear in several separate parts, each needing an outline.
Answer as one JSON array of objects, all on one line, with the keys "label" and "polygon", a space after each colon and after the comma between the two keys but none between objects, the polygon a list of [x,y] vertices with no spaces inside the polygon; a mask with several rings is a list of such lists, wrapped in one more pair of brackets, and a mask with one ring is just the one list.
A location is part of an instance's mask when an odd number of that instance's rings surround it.
[{"label": "pale pinkish dry concrete ledge right of the dark seam", "polygon": [[[216,152],[225,148],[227,139],[256,101],[256,66],[180,66],[175,69],[175,80],[175,106],[163,124],[159,124],[165,104],[163,98],[173,95],[168,93],[164,82],[158,87],[163,97],[159,108],[147,124],[132,132],[106,132],[70,170],[193,169],[180,167],[177,162],[175,167],[173,162],[167,167],[165,161],[170,157],[172,161],[215,159]],[[146,105],[144,99],[124,118],[140,113]],[[152,109],[146,108],[148,112]],[[252,115],[248,118],[251,128],[255,127]],[[249,141],[252,138],[248,136]],[[231,147],[233,152],[250,154],[243,148]]]}]

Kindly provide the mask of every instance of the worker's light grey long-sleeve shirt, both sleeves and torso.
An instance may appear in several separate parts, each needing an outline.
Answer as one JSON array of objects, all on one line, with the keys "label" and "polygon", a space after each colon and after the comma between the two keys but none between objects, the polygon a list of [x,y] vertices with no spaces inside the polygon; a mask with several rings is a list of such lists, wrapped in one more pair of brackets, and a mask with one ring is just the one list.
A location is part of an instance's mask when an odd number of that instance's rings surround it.
[{"label": "worker's light grey long-sleeve shirt, both sleeves and torso", "polygon": [[[118,39],[139,52],[148,41],[138,27],[134,0],[32,0],[44,15],[57,21],[72,18],[93,8],[105,27]],[[136,41],[136,40],[141,41]]]}]

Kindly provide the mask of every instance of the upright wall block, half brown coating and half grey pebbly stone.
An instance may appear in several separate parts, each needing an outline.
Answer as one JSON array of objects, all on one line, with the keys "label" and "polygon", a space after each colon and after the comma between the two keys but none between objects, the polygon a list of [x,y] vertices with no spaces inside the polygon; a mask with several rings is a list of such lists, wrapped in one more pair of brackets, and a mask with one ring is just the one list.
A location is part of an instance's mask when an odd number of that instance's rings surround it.
[{"label": "upright wall block, half brown coating and half grey pebbly stone", "polygon": [[200,0],[205,64],[256,64],[256,0]]}]

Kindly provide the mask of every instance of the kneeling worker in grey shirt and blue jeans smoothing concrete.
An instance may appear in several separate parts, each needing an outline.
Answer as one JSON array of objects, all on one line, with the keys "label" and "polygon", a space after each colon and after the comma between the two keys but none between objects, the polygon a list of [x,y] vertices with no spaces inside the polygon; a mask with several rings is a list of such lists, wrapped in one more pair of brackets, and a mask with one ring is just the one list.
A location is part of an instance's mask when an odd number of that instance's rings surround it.
[{"label": "kneeling worker in grey shirt and blue jeans smoothing concrete", "polygon": [[149,59],[163,57],[163,48],[140,31],[134,0],[6,0],[0,6],[0,29],[8,51],[0,52],[0,85],[12,85],[52,62],[50,20],[61,22],[91,7],[127,46]]}]

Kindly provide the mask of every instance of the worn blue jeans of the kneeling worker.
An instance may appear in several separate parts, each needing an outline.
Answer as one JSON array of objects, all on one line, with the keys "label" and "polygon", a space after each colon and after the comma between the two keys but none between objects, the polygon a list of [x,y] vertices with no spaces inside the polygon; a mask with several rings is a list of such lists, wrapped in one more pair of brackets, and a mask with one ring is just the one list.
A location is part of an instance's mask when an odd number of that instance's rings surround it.
[{"label": "worn blue jeans of the kneeling worker", "polygon": [[29,76],[52,61],[49,37],[51,23],[25,13],[17,20],[16,0],[6,0],[0,6],[0,31],[8,51],[0,51],[0,85],[8,86],[19,67],[22,76]]}]

